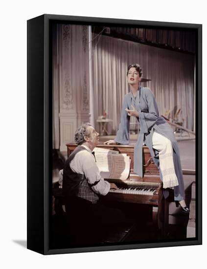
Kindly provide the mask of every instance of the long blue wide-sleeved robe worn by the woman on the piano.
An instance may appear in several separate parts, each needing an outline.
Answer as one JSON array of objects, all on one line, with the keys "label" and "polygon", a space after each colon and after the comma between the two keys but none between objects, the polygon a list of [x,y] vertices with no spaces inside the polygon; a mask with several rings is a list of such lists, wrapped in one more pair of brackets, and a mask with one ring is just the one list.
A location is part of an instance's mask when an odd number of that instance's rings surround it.
[{"label": "long blue wide-sleeved robe worn by the woman on the piano", "polygon": [[[152,148],[152,135],[157,132],[167,137],[173,147],[173,161],[179,186],[174,187],[175,196],[184,198],[184,182],[180,161],[180,151],[175,135],[166,120],[159,116],[158,106],[153,92],[146,87],[139,87],[136,98],[132,92],[124,96],[121,119],[115,141],[120,144],[129,144],[129,122],[130,116],[125,108],[132,110],[132,105],[138,111],[138,123],[140,124],[140,133],[134,149],[134,172],[143,177],[142,171],[142,145],[143,143],[150,150],[150,154],[160,170],[159,152]],[[161,176],[161,171],[160,171]],[[161,176],[162,179],[162,176]]]}]

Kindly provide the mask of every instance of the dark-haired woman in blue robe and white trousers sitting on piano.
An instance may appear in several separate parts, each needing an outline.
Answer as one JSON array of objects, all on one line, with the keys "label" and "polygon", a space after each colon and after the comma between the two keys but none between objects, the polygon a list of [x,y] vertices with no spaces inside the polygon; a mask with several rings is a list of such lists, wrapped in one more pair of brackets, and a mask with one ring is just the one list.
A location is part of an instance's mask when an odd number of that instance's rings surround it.
[{"label": "dark-haired woman in blue robe and white trousers sitting on piano", "polygon": [[153,161],[160,171],[163,182],[163,195],[168,197],[168,188],[174,189],[174,200],[177,206],[188,213],[184,201],[184,180],[180,160],[180,151],[175,135],[170,125],[159,116],[158,106],[152,91],[141,87],[142,69],[138,64],[128,67],[127,81],[130,92],[124,96],[121,120],[114,140],[105,144],[129,144],[130,116],[137,118],[140,133],[134,150],[134,172],[143,177],[142,145],[150,150]]}]

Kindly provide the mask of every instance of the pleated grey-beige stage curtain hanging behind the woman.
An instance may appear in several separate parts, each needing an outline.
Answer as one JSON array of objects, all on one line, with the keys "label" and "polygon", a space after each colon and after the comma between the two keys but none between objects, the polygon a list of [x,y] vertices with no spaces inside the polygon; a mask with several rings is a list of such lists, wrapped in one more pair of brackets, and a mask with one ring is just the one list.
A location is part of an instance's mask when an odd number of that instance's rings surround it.
[{"label": "pleated grey-beige stage curtain hanging behind the woman", "polygon": [[194,130],[194,55],[100,35],[93,37],[92,45],[95,119],[106,110],[113,119],[110,131],[116,133],[123,97],[129,92],[127,67],[138,63],[143,78],[151,79],[142,85],[155,94],[160,115],[170,110],[173,116],[181,109],[184,127]]}]

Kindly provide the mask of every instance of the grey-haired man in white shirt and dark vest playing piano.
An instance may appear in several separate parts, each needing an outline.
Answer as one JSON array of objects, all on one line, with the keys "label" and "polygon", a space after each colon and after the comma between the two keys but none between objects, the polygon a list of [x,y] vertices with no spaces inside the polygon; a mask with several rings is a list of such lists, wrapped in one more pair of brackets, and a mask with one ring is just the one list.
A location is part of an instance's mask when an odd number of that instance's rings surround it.
[{"label": "grey-haired man in white shirt and dark vest playing piano", "polygon": [[[99,203],[99,195],[116,189],[114,183],[101,178],[93,149],[98,145],[99,134],[86,123],[75,132],[76,149],[67,159],[63,170],[63,195],[70,224],[82,225],[91,230],[101,225],[124,220],[123,213]],[[87,228],[87,229],[88,229]]]}]

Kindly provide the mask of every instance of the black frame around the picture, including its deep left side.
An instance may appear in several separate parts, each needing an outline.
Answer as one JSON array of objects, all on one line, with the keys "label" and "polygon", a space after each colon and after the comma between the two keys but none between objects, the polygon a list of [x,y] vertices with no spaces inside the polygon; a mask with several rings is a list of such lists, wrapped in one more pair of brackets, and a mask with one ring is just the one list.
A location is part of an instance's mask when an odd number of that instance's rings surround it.
[{"label": "black frame around the picture, including its deep left side", "polygon": [[[185,241],[49,248],[52,177],[51,23],[184,28],[196,31],[196,237]],[[45,14],[27,21],[27,248],[41,254],[202,244],[202,25]]]}]

